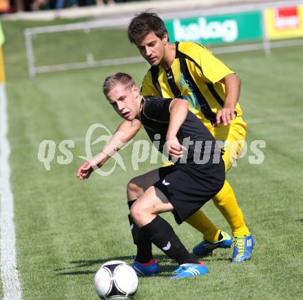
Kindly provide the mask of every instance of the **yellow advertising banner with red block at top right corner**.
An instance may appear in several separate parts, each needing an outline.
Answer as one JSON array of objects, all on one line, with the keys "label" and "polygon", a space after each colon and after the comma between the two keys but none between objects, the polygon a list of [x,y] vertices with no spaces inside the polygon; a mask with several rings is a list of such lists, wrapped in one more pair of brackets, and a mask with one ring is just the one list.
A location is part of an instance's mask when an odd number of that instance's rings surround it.
[{"label": "yellow advertising banner with red block at top right corner", "polygon": [[268,8],[265,27],[271,40],[303,37],[303,6]]}]

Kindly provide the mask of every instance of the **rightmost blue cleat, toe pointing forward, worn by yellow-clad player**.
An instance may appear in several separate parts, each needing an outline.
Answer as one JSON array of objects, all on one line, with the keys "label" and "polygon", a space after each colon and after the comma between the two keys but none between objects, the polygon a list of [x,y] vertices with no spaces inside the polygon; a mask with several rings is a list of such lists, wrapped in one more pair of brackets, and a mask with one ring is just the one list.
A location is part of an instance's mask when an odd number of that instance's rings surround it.
[{"label": "rightmost blue cleat, toe pointing forward, worn by yellow-clad player", "polygon": [[233,258],[231,261],[240,263],[251,258],[255,246],[255,239],[252,235],[244,237],[235,237],[233,241]]}]

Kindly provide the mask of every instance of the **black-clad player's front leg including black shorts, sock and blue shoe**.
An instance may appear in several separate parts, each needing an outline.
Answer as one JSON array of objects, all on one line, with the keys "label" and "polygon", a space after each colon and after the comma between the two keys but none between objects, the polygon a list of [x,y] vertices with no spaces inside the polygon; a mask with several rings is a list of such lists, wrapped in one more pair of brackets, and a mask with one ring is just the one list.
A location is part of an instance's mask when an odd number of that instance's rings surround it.
[{"label": "black-clad player's front leg including black shorts, sock and blue shoe", "polygon": [[158,170],[159,180],[148,188],[131,208],[131,217],[146,237],[180,268],[174,278],[205,274],[207,268],[189,254],[174,230],[158,214],[172,211],[182,223],[213,197],[224,184],[224,163],[169,166]]}]

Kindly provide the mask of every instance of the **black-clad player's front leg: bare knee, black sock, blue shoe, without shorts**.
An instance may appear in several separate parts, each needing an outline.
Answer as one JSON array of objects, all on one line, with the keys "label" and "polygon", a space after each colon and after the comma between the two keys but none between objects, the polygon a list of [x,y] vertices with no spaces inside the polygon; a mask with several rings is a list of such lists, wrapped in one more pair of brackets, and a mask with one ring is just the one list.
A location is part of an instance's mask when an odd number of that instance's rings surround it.
[{"label": "black-clad player's front leg: bare knee, black sock, blue shoe, without shorts", "polygon": [[[199,263],[182,244],[174,229],[165,219],[158,216],[170,212],[174,207],[169,203],[163,192],[151,186],[134,203],[130,214],[136,226],[141,228],[149,241],[163,250],[171,259],[175,259],[180,267],[174,273],[173,279],[207,274],[209,271],[204,263]],[[136,270],[136,264],[133,268]],[[138,272],[138,270],[136,270]],[[140,272],[140,270],[139,270]]]}]

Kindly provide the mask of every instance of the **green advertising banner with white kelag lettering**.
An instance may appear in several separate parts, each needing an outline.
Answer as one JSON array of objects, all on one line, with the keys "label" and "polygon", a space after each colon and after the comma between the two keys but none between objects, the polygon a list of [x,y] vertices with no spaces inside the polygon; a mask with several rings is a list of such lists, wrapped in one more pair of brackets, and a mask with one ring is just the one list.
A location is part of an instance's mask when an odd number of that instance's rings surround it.
[{"label": "green advertising banner with white kelag lettering", "polygon": [[165,21],[165,26],[171,42],[196,41],[209,45],[262,39],[262,15],[259,11],[174,19]]}]

